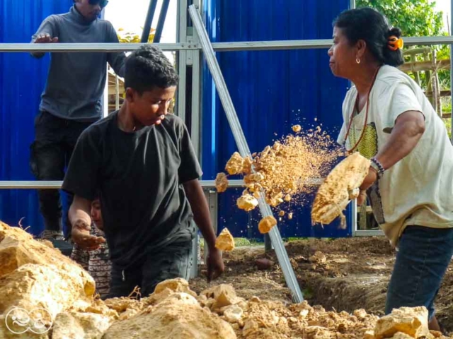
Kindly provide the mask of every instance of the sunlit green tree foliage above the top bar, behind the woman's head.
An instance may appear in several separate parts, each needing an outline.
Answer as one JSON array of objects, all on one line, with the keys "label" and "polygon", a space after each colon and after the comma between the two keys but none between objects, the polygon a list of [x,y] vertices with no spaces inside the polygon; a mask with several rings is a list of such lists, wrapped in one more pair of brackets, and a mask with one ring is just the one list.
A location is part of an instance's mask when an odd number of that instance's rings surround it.
[{"label": "sunlit green tree foliage above the top bar, behind the woman's head", "polygon": [[405,37],[444,35],[442,12],[428,0],[357,0],[357,7],[372,7],[401,28]]}]

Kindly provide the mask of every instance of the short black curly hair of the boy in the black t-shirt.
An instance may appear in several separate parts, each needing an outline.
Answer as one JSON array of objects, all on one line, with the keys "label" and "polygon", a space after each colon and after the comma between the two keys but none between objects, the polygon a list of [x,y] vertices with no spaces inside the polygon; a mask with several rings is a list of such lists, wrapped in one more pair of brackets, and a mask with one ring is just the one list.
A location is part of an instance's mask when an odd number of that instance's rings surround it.
[{"label": "short black curly hair of the boy in the black t-shirt", "polygon": [[127,57],[125,64],[125,88],[142,94],[153,88],[178,85],[178,73],[164,53],[146,44]]}]

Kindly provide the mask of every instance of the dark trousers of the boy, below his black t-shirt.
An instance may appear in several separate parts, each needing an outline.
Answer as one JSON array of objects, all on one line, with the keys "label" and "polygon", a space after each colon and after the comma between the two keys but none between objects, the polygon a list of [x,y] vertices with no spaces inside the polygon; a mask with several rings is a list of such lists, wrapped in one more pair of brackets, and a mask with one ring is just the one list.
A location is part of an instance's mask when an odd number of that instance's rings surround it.
[{"label": "dark trousers of the boy, below his black t-shirt", "polygon": [[108,298],[127,297],[135,287],[148,297],[156,285],[167,279],[189,280],[192,267],[192,241],[169,244],[150,251],[144,258],[123,270],[113,263]]}]

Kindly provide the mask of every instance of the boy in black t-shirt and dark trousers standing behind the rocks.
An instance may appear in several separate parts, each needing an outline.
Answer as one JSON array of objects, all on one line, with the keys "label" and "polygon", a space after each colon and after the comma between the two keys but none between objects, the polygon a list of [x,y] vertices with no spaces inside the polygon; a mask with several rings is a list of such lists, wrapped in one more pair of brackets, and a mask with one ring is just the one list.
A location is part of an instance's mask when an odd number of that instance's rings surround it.
[{"label": "boy in black t-shirt and dark trousers standing behind the rocks", "polygon": [[162,280],[188,279],[192,220],[209,247],[208,280],[224,271],[188,130],[167,112],[177,83],[159,49],[133,52],[125,103],[81,134],[64,178],[63,189],[74,194],[72,239],[87,249],[105,242],[89,232],[91,201],[100,191],[113,263],[109,297],[130,295],[136,286],[147,296]]}]

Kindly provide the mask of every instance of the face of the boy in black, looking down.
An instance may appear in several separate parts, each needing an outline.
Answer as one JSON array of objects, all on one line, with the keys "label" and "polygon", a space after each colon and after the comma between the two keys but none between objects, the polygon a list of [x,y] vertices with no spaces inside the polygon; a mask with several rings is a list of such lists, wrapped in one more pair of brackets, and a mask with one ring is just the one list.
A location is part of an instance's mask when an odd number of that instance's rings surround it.
[{"label": "face of the boy in black, looking down", "polygon": [[176,86],[154,88],[140,95],[132,88],[127,88],[126,97],[129,109],[135,121],[142,126],[159,125],[168,114],[168,106],[175,96]]}]

